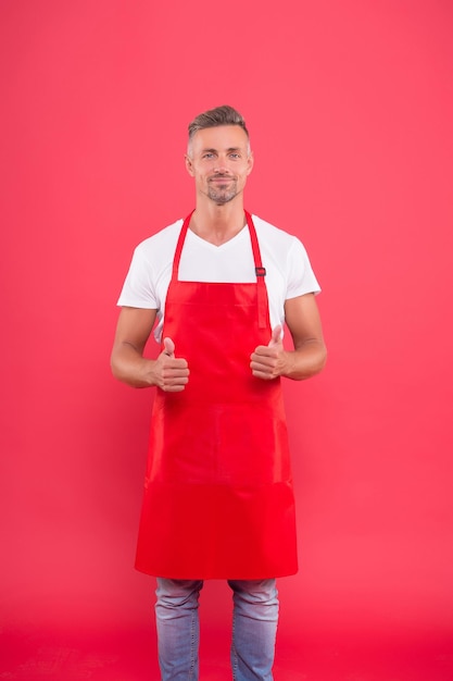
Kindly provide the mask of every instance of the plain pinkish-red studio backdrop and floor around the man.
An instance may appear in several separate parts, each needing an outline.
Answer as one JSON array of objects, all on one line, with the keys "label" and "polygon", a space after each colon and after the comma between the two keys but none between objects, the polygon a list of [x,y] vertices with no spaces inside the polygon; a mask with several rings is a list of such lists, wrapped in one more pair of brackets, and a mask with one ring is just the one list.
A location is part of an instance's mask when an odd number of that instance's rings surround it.
[{"label": "plain pinkish-red studio backdrop and floor around the man", "polygon": [[[152,393],[110,374],[115,301],[136,244],[192,208],[187,123],[230,103],[247,207],[307,247],[329,348],[286,384],[301,569],[276,679],[452,679],[452,4],[0,13],[0,672],[158,678],[133,569]],[[229,598],[205,585],[205,678],[229,678]]]}]

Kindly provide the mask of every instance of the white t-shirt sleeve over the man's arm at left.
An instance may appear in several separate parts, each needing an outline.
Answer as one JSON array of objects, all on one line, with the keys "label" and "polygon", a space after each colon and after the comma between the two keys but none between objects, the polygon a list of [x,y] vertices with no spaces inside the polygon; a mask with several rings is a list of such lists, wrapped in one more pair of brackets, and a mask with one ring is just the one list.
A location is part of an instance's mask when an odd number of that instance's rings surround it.
[{"label": "white t-shirt sleeve over the man's arm at left", "polygon": [[117,305],[122,307],[158,310],[160,304],[152,282],[150,263],[142,246],[134,251],[129,271],[123,285]]}]

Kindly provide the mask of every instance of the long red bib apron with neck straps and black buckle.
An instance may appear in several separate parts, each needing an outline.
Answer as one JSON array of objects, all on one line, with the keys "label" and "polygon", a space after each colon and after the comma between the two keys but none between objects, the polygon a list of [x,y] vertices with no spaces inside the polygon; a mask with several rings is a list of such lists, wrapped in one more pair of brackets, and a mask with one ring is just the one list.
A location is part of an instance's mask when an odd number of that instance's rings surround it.
[{"label": "long red bib apron with neck straps and black buckle", "polygon": [[178,281],[176,247],[162,337],[190,376],[158,388],[136,567],[173,579],[266,579],[298,570],[294,498],[279,380],[252,375],[270,339],[267,290],[251,215],[256,282]]}]

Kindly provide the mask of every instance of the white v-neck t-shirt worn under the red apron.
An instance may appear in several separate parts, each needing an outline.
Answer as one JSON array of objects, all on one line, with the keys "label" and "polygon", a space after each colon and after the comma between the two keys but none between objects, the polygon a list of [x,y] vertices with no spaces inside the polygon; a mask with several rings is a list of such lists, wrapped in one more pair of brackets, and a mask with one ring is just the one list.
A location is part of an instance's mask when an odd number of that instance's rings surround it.
[{"label": "white v-neck t-shirt worn under the red apron", "polygon": [[[319,293],[302,243],[282,230],[253,215],[262,264],[266,269],[270,325],[285,322],[285,301]],[[183,220],[150,236],[137,246],[117,305],[158,310],[154,337],[161,339],[165,299]],[[214,246],[188,230],[179,262],[179,280],[186,282],[250,283],[256,281],[249,227]]]}]

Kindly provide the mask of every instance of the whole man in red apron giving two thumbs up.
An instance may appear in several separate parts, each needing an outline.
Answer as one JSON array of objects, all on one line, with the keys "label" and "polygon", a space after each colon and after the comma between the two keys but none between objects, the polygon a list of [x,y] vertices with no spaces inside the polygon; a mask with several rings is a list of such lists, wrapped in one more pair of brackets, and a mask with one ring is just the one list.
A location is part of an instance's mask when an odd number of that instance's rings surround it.
[{"label": "whole man in red apron giving two thumbs up", "polygon": [[186,168],[194,211],[137,247],[112,351],[118,380],[156,387],[136,567],[158,578],[163,681],[198,679],[205,579],[232,590],[234,679],[270,681],[276,578],[298,569],[280,377],[324,367],[319,288],[299,239],[244,211],[253,156],[237,111],[190,123]]}]

